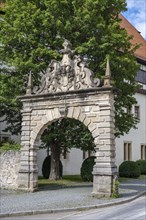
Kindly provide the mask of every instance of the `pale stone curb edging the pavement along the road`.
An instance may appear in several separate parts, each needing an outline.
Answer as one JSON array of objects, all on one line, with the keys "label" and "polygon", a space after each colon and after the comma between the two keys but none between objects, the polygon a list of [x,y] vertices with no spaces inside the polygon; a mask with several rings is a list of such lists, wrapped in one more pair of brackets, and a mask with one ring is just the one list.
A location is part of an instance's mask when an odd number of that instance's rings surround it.
[{"label": "pale stone curb edging the pavement along the road", "polygon": [[48,210],[45,209],[45,210],[33,210],[33,211],[26,211],[26,212],[5,213],[5,214],[0,214],[0,218],[26,216],[26,215],[38,215],[38,214],[50,214],[50,213],[56,213],[56,212],[83,211],[83,210],[95,209],[95,208],[106,208],[109,206],[120,205],[120,204],[124,204],[127,202],[131,202],[131,201],[133,201],[133,200],[135,200],[145,194],[146,194],[146,190],[138,193],[135,196],[131,196],[130,198],[127,198],[127,199],[120,198],[120,199],[118,199],[119,201],[112,201],[109,203],[104,203],[104,204],[99,204],[99,205],[80,206],[80,207],[76,207],[76,208],[48,209]]}]

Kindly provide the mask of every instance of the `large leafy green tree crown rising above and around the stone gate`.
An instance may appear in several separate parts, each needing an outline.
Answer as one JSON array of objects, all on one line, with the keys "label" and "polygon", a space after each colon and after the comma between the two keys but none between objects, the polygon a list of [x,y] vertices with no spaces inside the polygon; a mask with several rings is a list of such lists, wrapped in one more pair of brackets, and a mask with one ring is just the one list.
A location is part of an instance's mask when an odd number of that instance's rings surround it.
[{"label": "large leafy green tree crown rising above and around the stone gate", "polygon": [[0,20],[0,105],[10,130],[13,119],[20,119],[16,96],[24,93],[28,73],[33,73],[37,83],[38,73],[46,70],[51,59],[61,59],[64,38],[70,40],[77,54],[88,58],[96,77],[105,75],[105,58],[110,57],[113,85],[119,91],[115,134],[135,128],[137,121],[129,110],[136,103],[137,46],[120,28],[118,15],[124,10],[125,0],[6,0]]}]

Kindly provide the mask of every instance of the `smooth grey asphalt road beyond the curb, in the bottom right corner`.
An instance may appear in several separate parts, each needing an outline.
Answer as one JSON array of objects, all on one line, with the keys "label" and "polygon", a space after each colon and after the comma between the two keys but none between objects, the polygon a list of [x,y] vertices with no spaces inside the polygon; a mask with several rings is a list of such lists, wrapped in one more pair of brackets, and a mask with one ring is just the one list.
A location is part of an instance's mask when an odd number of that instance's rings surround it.
[{"label": "smooth grey asphalt road beyond the curb, in the bottom right corner", "polygon": [[142,196],[132,202],[116,206],[98,208],[85,211],[58,212],[51,214],[17,216],[2,218],[4,220],[145,220],[146,196]]}]

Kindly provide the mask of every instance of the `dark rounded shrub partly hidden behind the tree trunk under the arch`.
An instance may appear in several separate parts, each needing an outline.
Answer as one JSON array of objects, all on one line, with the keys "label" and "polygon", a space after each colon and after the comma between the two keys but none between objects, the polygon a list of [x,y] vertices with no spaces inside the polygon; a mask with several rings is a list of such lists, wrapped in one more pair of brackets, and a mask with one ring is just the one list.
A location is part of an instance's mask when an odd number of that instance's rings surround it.
[{"label": "dark rounded shrub partly hidden behind the tree trunk under the arch", "polygon": [[[43,165],[42,165],[42,174],[45,179],[49,178],[50,168],[51,168],[51,156],[49,155],[45,158]],[[60,177],[62,177],[63,166],[62,166],[61,161],[59,161],[59,172],[60,172]]]}]

